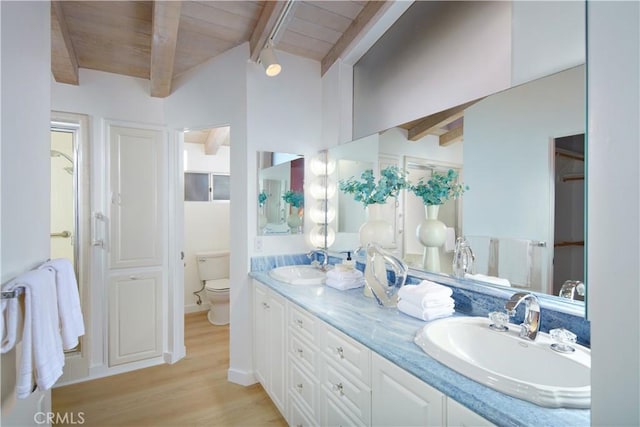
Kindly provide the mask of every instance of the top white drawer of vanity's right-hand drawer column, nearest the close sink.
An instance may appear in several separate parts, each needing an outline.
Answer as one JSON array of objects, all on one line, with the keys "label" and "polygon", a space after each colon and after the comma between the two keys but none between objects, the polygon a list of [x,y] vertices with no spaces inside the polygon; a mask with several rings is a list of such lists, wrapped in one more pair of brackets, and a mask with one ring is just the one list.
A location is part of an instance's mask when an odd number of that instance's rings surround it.
[{"label": "top white drawer of vanity's right-hand drawer column, nearest the close sink", "polygon": [[324,328],[322,342],[328,360],[371,386],[371,350],[330,326]]}]

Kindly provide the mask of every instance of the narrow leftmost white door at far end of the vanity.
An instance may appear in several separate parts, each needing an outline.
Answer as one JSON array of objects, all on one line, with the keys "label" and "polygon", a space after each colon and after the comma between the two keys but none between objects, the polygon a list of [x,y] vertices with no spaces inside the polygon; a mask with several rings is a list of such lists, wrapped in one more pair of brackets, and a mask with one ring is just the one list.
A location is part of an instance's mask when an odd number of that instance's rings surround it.
[{"label": "narrow leftmost white door at far end of the vanity", "polygon": [[267,370],[269,368],[267,354],[267,288],[258,282],[253,291],[253,370],[256,379],[267,389]]}]

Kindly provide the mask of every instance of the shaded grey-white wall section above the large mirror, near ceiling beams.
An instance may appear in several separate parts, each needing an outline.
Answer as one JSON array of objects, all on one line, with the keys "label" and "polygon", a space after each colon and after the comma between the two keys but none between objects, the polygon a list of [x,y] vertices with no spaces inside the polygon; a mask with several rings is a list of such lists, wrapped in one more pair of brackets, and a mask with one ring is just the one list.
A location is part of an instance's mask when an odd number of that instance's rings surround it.
[{"label": "shaded grey-white wall section above the large mirror, near ceiling beams", "polygon": [[354,137],[511,84],[511,2],[415,2],[354,67]]}]

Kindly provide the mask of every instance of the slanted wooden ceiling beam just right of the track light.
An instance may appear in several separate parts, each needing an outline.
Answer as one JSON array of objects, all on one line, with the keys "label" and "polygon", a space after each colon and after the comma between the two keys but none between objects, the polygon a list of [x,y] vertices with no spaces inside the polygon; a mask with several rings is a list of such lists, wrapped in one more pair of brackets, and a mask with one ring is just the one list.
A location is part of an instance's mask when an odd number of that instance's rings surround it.
[{"label": "slanted wooden ceiling beam just right of the track light", "polygon": [[375,24],[393,2],[369,1],[353,20],[349,28],[340,36],[336,44],[322,58],[320,63],[320,75],[324,76],[329,68],[344,54],[371,25]]}]

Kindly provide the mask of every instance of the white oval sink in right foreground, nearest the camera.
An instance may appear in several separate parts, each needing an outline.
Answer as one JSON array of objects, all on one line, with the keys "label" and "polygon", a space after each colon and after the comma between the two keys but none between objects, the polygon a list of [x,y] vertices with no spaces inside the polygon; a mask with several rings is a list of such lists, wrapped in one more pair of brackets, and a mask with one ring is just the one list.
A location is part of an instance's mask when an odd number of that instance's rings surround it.
[{"label": "white oval sink in right foreground, nearest the camera", "polygon": [[429,356],[460,374],[509,396],[549,408],[591,406],[591,350],[572,344],[572,353],[550,348],[553,339],[535,341],[489,328],[483,317],[449,317],[420,329],[414,342]]}]

